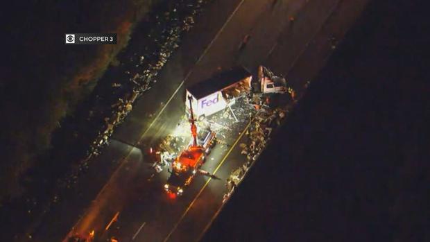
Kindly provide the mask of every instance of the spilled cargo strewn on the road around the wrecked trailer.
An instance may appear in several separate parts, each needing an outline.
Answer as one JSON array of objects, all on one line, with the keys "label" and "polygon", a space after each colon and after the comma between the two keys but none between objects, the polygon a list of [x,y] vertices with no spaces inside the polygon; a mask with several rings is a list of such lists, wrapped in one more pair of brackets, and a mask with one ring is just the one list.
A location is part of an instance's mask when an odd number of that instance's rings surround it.
[{"label": "spilled cargo strewn on the road around the wrecked trailer", "polygon": [[[264,69],[268,72],[268,69]],[[260,70],[264,69],[260,68]],[[261,84],[270,83],[274,77],[273,74],[270,78],[261,75],[258,81]],[[254,164],[261,152],[266,148],[268,141],[270,141],[270,135],[281,125],[286,114],[293,107],[295,92],[287,85],[284,85],[284,87],[285,92],[264,92],[264,89],[239,90],[238,94],[231,100],[232,105],[222,106],[223,109],[205,116],[200,121],[196,121],[199,130],[211,130],[216,133],[216,143],[221,146],[223,150],[221,152],[226,152],[228,148],[232,147],[232,140],[236,138],[237,141],[240,139],[242,142],[239,144],[239,148],[241,149],[241,155],[243,155],[243,161],[239,162],[241,165],[232,171],[230,177],[225,180],[226,192],[223,196],[223,202],[230,198],[235,187],[239,185],[246,175],[248,168]],[[224,87],[221,87],[221,89],[224,89]],[[192,88],[187,90],[193,92]],[[213,91],[218,92],[211,90],[211,92]],[[198,100],[193,99],[191,92],[187,93],[190,100],[194,100],[196,103],[206,100],[204,95],[203,98]],[[209,96],[213,98],[214,94],[209,94]],[[218,98],[219,96],[215,99]],[[212,105],[216,105],[216,102],[212,103]],[[204,106],[204,102],[201,103]],[[189,105],[192,106],[191,101]],[[164,168],[170,171],[181,150],[184,150],[190,144],[189,121],[190,119],[187,115],[182,116],[172,134],[168,135],[160,143],[160,146],[156,148],[159,157],[153,161],[152,166],[155,168],[156,173],[160,173]],[[212,160],[214,157],[210,159]],[[215,174],[211,174],[208,171],[200,168],[198,168],[198,171],[202,175],[220,180]],[[169,187],[169,184],[166,184],[166,187]]]}]

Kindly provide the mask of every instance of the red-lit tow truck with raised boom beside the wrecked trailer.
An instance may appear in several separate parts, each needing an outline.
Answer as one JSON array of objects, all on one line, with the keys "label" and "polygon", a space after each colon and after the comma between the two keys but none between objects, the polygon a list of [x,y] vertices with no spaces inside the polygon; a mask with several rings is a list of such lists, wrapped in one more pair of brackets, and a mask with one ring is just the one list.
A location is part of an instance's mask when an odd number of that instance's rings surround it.
[{"label": "red-lit tow truck with raised boom beside the wrecked trailer", "polygon": [[182,153],[172,163],[171,175],[166,184],[164,184],[164,190],[174,196],[182,195],[184,188],[191,183],[216,142],[216,134],[210,128],[204,128],[197,132],[197,126],[194,123],[193,107],[191,105],[192,97],[188,96],[188,100],[192,139],[187,148],[182,150]]}]

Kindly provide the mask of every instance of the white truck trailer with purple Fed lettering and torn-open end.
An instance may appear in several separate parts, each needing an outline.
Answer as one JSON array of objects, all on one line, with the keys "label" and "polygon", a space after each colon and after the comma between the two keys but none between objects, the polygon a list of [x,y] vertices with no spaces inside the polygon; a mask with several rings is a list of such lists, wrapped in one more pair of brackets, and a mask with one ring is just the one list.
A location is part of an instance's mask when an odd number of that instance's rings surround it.
[{"label": "white truck trailer with purple Fed lettering and torn-open end", "polygon": [[[251,80],[252,75],[246,69],[234,67],[187,87],[186,97],[191,96],[191,105],[196,118],[203,119],[233,105],[235,94],[250,91]],[[185,105],[187,112],[189,112],[188,106]]]}]

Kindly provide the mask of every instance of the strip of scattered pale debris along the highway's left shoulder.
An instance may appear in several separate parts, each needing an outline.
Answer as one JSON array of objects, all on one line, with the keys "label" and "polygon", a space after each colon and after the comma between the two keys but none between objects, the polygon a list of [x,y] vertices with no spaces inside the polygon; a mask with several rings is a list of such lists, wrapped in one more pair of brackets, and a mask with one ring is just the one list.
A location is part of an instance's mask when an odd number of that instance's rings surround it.
[{"label": "strip of scattered pale debris along the highway's left shoulder", "polygon": [[[185,4],[184,4],[185,2]],[[101,148],[108,144],[109,138],[112,136],[114,129],[126,119],[126,116],[132,110],[134,101],[151,89],[151,85],[156,83],[157,74],[164,67],[167,60],[171,57],[173,51],[178,49],[180,37],[184,31],[189,31],[195,24],[195,17],[203,10],[203,6],[207,1],[202,0],[186,0],[173,3],[171,10],[164,14],[155,14],[154,28],[150,28],[146,35],[147,44],[139,53],[134,53],[128,61],[134,69],[127,69],[123,74],[128,76],[128,82],[120,82],[119,80],[110,84],[112,90],[111,96],[119,98],[111,105],[110,114],[106,114],[105,107],[96,108],[100,110],[97,113],[92,112],[91,118],[96,119],[96,116],[104,116],[108,118],[108,123],[103,127],[87,152],[88,157],[96,156],[100,153]],[[121,63],[123,64],[123,63]],[[107,128],[109,126],[109,128]]]}]

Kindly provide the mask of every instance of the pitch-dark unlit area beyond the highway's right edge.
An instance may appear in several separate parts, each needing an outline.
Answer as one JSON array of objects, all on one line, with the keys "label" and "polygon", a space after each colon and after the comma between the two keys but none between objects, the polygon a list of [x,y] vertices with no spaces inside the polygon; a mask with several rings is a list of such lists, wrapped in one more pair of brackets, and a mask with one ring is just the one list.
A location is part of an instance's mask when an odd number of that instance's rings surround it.
[{"label": "pitch-dark unlit area beyond the highway's right edge", "polygon": [[373,1],[203,241],[429,241],[426,10]]}]

